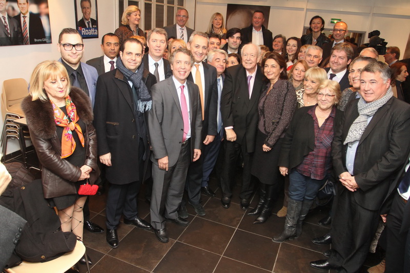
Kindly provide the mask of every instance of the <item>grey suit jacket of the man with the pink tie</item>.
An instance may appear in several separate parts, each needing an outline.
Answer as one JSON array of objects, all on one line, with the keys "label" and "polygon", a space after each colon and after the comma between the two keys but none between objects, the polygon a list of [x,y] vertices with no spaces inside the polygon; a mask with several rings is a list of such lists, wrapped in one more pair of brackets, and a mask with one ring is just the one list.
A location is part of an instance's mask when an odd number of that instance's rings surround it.
[{"label": "grey suit jacket of the man with the pink tie", "polygon": [[[198,86],[187,80],[191,116],[191,160],[193,150],[201,149],[202,110]],[[176,164],[181,150],[183,120],[181,106],[172,77],[158,82],[151,88],[152,108],[148,115],[153,153],[151,161],[168,156],[169,166]]]}]

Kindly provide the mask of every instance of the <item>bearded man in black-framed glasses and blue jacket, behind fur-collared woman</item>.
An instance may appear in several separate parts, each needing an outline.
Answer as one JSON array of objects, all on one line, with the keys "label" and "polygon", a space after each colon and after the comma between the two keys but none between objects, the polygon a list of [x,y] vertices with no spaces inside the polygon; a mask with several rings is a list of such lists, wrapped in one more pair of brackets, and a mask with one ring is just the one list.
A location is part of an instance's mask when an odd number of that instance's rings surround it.
[{"label": "bearded man in black-framed glasses and blue jacket, behind fur-collared woman", "polygon": [[[83,37],[77,30],[65,28],[58,36],[57,50],[61,54],[58,61],[67,69],[71,85],[83,90],[94,106],[98,73],[92,66],[81,62],[84,54]],[[83,208],[84,228],[92,233],[103,233],[104,229],[90,220],[89,200],[87,198]]]}]

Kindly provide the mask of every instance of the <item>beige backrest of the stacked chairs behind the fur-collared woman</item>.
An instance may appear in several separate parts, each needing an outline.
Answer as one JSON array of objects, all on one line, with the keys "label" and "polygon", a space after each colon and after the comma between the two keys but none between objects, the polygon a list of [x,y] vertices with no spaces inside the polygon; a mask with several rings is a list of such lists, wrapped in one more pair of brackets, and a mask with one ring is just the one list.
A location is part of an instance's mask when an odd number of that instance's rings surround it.
[{"label": "beige backrest of the stacked chairs behind the fur-collared woman", "polygon": [[28,83],[23,78],[7,79],[3,81],[2,112],[3,116],[17,115],[24,117],[21,108],[22,100],[29,94]]}]

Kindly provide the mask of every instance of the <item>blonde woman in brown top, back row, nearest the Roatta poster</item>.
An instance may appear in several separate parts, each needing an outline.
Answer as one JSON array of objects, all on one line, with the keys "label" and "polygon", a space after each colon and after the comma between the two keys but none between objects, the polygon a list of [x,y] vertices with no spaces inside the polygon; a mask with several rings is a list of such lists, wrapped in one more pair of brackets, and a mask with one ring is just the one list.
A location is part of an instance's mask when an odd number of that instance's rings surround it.
[{"label": "blonde woman in brown top, back row, nearest the Roatta poster", "polygon": [[144,36],[144,30],[138,27],[140,19],[141,11],[137,6],[131,5],[125,9],[121,17],[122,26],[117,28],[114,32],[119,38],[120,45],[131,36]]}]

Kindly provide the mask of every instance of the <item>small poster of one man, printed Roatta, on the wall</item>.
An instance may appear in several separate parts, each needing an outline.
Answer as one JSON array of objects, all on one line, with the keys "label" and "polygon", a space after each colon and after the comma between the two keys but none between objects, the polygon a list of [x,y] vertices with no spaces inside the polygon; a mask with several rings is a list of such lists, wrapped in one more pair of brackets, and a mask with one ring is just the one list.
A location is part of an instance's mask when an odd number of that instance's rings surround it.
[{"label": "small poster of one man, printed Roatta, on the wall", "polygon": [[75,26],[83,39],[98,38],[97,0],[74,0]]}]

